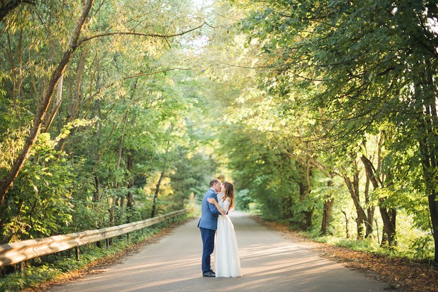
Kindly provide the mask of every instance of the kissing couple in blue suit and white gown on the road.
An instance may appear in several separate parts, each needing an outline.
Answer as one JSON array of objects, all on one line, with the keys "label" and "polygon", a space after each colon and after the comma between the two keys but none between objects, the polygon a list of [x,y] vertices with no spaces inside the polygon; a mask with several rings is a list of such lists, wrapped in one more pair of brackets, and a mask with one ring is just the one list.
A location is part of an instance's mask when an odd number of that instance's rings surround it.
[{"label": "kissing couple in blue suit and white gown on the road", "polygon": [[[209,185],[210,188],[202,199],[202,213],[198,223],[203,244],[202,276],[242,276],[234,225],[228,217],[228,211],[234,205],[234,185],[229,182],[221,183],[219,180],[212,180]],[[224,194],[220,201],[217,199],[218,193]],[[216,273],[211,270],[210,266],[210,255],[213,253],[215,235]]]}]

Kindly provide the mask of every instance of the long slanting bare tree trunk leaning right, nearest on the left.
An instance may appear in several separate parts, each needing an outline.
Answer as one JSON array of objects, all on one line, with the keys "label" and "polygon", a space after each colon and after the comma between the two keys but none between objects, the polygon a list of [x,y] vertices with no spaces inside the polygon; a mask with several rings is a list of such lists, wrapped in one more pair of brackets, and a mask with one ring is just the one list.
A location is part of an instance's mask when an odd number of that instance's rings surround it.
[{"label": "long slanting bare tree trunk leaning right, nearest on the left", "polygon": [[80,32],[82,30],[82,26],[84,24],[85,19],[88,17],[92,4],[93,4],[93,0],[87,0],[87,2],[85,3],[84,8],[82,10],[82,14],[76,23],[75,29],[72,32],[72,36],[69,42],[69,48],[67,49],[67,51],[64,52],[61,61],[58,63],[55,71],[52,73],[52,76],[50,77],[47,90],[44,94],[41,104],[38,107],[37,114],[33,121],[33,126],[32,129],[30,130],[29,137],[27,138],[26,143],[21,149],[19,156],[17,157],[17,160],[15,161],[11,170],[0,183],[0,206],[3,204],[4,197],[6,196],[9,186],[11,186],[12,183],[17,178],[21,167],[23,166],[24,162],[27,160],[29,156],[29,151],[31,150],[32,146],[35,144],[35,141],[37,140],[38,132],[44,121],[44,117],[46,115],[47,109],[49,108],[50,102],[52,101],[52,96],[53,96],[53,92],[55,91],[55,87],[57,86],[59,78],[64,73],[65,67],[67,66],[68,62],[70,61],[73,53],[77,48],[77,43],[78,43]]}]

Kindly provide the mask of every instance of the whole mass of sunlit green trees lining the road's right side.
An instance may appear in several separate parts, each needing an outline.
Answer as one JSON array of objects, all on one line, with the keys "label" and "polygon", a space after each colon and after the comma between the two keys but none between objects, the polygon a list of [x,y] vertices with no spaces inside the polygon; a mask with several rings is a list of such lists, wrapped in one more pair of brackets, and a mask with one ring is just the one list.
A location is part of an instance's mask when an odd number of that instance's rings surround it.
[{"label": "whole mass of sunlit green trees lining the road's right side", "polygon": [[228,26],[211,35],[221,47],[212,41],[204,53],[215,55],[207,75],[225,87],[216,94],[226,113],[221,153],[236,188],[266,219],[359,239],[366,229],[376,245],[389,236],[390,249],[417,244],[430,256],[422,238],[438,242],[436,3],[216,8],[236,19],[212,18]]}]

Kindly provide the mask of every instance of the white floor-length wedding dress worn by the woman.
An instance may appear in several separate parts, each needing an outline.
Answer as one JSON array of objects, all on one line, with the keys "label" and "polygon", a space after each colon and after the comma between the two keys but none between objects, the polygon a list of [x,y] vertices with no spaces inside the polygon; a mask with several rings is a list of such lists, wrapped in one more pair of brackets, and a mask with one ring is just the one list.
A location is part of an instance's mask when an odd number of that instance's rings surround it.
[{"label": "white floor-length wedding dress worn by the woman", "polygon": [[[219,201],[225,213],[229,209],[229,201]],[[216,232],[215,273],[216,277],[242,276],[239,250],[237,248],[234,225],[228,215],[219,215]]]}]

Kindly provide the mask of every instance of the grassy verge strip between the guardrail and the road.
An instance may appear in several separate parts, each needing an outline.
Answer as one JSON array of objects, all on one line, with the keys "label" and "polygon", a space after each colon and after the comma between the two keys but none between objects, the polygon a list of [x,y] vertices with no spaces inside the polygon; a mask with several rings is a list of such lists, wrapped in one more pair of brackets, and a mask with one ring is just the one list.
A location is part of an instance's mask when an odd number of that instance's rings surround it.
[{"label": "grassy verge strip between the guardrail and the road", "polygon": [[[179,216],[179,218],[175,219],[175,222],[193,218],[194,216],[195,213],[190,212],[186,215]],[[25,267],[23,273],[11,273],[0,278],[0,292],[16,292],[35,287],[40,283],[55,280],[64,273],[81,270],[85,268],[86,265],[98,259],[119,253],[130,247],[133,243],[144,241],[169,226],[169,223],[163,222],[160,226],[156,224],[144,228],[143,233],[141,231],[132,232],[130,233],[129,241],[126,236],[122,236],[121,238],[113,237],[113,243],[109,248],[106,248],[105,244],[103,244],[101,248],[96,247],[95,244],[81,246],[79,260],[76,260],[75,253],[72,253],[71,256],[59,258],[51,263],[41,263],[39,266],[28,265]]]}]

